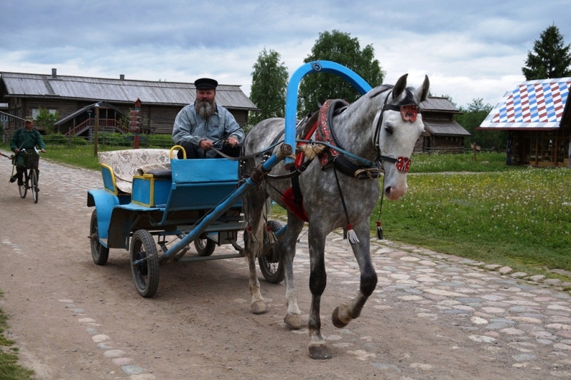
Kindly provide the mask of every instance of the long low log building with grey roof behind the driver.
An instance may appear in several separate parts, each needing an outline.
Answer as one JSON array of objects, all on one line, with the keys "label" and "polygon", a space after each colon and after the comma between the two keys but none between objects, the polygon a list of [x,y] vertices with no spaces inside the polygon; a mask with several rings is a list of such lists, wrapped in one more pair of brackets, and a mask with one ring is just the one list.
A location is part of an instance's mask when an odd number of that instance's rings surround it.
[{"label": "long low log building with grey roof behind the driver", "polygon": [[[39,108],[59,112],[56,132],[88,137],[98,106],[100,130],[121,131],[118,123],[140,99],[141,122],[151,133],[171,134],[178,111],[196,98],[193,83],[133,81],[118,79],[0,72],[0,102],[19,118],[36,115]],[[248,112],[259,111],[237,85],[218,85],[216,102],[228,109],[239,125],[248,123]],[[23,126],[9,118],[6,133]],[[124,131],[124,130],[123,130]]]}]

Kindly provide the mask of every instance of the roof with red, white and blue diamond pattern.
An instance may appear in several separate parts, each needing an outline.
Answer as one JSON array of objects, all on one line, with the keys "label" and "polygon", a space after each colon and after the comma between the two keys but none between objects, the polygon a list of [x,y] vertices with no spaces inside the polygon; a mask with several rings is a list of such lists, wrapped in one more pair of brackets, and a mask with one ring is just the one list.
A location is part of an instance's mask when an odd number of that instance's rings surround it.
[{"label": "roof with red, white and blue diamond pattern", "polygon": [[478,129],[557,129],[571,78],[514,83]]}]

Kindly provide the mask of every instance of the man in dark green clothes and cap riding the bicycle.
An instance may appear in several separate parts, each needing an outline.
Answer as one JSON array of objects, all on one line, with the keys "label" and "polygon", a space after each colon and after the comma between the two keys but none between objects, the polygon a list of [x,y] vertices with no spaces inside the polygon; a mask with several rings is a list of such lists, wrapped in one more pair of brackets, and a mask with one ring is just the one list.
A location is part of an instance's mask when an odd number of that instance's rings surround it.
[{"label": "man in dark green clothes and cap riding the bicycle", "polygon": [[[46,144],[44,140],[41,139],[40,133],[34,128],[34,118],[31,116],[26,116],[24,118],[24,128],[19,128],[14,132],[12,139],[10,140],[10,149],[12,152],[16,153],[16,177],[11,178],[10,182],[18,180],[18,185],[24,185],[24,170],[26,169],[26,162],[24,160],[24,155],[19,154],[22,149],[31,152],[36,148],[40,148],[41,153],[46,153]],[[38,163],[34,163],[34,168],[40,175],[38,170]]]}]

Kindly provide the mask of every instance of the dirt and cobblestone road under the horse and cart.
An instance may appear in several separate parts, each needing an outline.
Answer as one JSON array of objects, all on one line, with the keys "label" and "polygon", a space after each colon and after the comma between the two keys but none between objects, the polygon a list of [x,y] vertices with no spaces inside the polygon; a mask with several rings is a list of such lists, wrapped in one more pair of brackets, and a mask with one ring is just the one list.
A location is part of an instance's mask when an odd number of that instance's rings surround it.
[{"label": "dirt and cobblestone road under the horse and cart", "polygon": [[[0,160],[0,304],[37,379],[571,377],[566,284],[387,242],[373,245],[375,294],[359,319],[335,329],[330,313],[355,294],[359,274],[332,234],[321,310],[334,357],[314,361],[307,329],[283,324],[283,284],[261,281],[269,311],[255,315],[242,259],[169,263],[156,296],[143,299],[126,251],[111,250],[102,267],[91,260],[86,190],[101,187],[99,173],[43,160],[35,205],[7,183],[10,170]],[[305,317],[308,272],[302,240],[295,282]]]}]

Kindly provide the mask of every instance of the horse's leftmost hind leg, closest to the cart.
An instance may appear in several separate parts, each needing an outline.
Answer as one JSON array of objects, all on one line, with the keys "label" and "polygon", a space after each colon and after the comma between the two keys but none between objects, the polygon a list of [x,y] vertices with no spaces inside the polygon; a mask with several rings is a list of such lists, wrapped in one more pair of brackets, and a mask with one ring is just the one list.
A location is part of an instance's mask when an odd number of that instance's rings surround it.
[{"label": "horse's leftmost hind leg, closest to the cart", "polygon": [[[258,281],[258,274],[256,274],[256,257],[261,255],[263,250],[263,226],[261,224],[261,217],[265,200],[261,192],[251,191],[243,198],[243,202],[244,210],[247,210],[246,219],[248,220],[248,225],[251,227],[253,236],[258,240],[257,242],[253,242],[251,238],[244,237],[244,252],[248,259],[248,268],[250,269],[250,306],[254,314],[263,314],[267,311],[267,307],[266,302],[263,302],[260,292],[260,282]],[[244,233],[248,234],[248,232]]]}]

